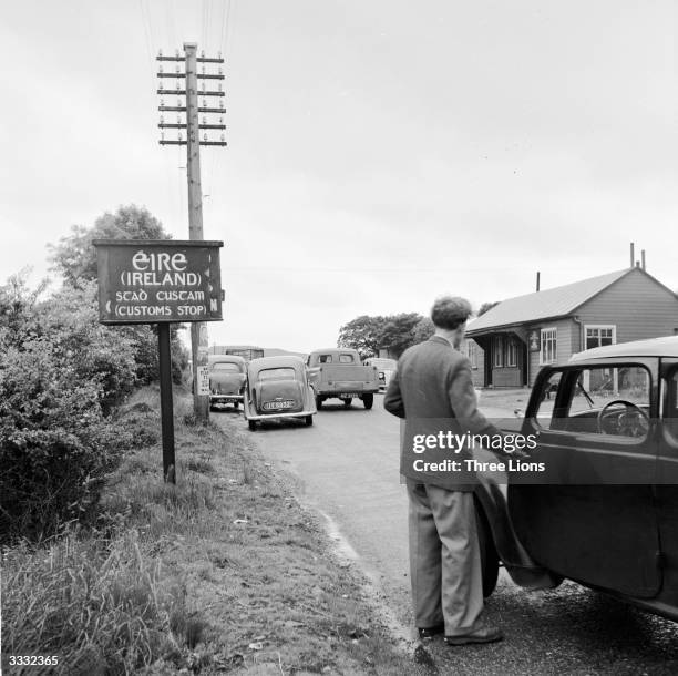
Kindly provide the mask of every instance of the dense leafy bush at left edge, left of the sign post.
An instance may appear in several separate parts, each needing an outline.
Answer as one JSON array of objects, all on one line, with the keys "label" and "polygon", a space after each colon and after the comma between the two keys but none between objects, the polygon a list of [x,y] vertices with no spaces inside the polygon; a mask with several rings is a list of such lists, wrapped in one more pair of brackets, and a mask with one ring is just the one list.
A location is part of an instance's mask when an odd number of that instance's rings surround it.
[{"label": "dense leafy bush at left edge, left of the sign post", "polygon": [[99,325],[91,285],[43,304],[16,293],[13,308],[0,317],[0,540],[40,540],[92,513],[130,441],[105,414],[131,391],[134,357]]}]

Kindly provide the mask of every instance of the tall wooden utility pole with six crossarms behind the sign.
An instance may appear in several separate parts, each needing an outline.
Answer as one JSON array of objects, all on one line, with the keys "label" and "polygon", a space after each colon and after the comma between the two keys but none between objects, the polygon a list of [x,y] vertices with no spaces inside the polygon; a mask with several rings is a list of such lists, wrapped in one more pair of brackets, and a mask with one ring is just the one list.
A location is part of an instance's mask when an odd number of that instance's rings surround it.
[{"label": "tall wooden utility pole with six crossarms behind the sign", "polygon": [[[224,109],[224,89],[222,80],[224,74],[222,68],[218,73],[206,73],[205,63],[224,63],[224,59],[219,54],[215,58],[206,58],[205,54],[197,55],[197,43],[184,42],[184,57],[181,57],[178,50],[174,57],[163,57],[162,52],[157,57],[157,61],[176,62],[174,73],[164,73],[163,66],[160,66],[157,76],[160,78],[160,89],[157,93],[161,95],[176,95],[176,106],[167,106],[161,99],[161,120],[158,127],[161,131],[161,145],[185,145],[186,146],[186,170],[188,180],[188,238],[204,239],[203,236],[203,188],[201,185],[201,145],[220,145],[225,146],[226,141],[222,133],[219,141],[210,141],[207,132],[204,133],[201,140],[201,130],[225,130],[223,116],[219,117],[218,124],[208,123],[207,117],[203,116],[203,123],[199,122],[199,113],[218,113],[223,115]],[[178,63],[184,62],[184,72],[181,71]],[[198,73],[197,64],[201,63],[202,72]],[[163,79],[175,79],[176,89],[165,89]],[[184,89],[181,86],[181,80],[184,80]],[[202,80],[202,89],[198,90],[198,80]],[[206,91],[205,81],[219,81],[218,91]],[[185,96],[185,104],[182,101]],[[198,96],[203,98],[203,105],[199,105]],[[218,106],[208,104],[208,98],[217,96]],[[166,123],[163,116],[165,112],[176,112],[176,124]],[[185,120],[182,120],[182,113],[185,114]],[[165,140],[165,130],[177,130],[177,139]],[[186,132],[184,141],[183,131]],[[197,420],[206,421],[209,419],[209,390],[205,391],[204,383],[208,381],[207,377],[207,355],[209,351],[209,342],[207,336],[207,325],[204,322],[191,324],[191,357],[193,363],[193,411]]]}]

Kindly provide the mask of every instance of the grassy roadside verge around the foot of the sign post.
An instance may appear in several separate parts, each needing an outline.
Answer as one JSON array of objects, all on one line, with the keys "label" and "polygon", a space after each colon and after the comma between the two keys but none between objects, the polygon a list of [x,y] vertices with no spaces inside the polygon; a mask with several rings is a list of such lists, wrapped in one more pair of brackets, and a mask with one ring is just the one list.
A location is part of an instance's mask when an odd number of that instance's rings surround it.
[{"label": "grassy roadside verge around the foot of the sign post", "polygon": [[[97,526],[6,550],[3,667],[11,674],[417,674],[335,561],[314,514],[235,429],[175,411],[177,484],[162,482],[157,395],[135,426]],[[8,655],[56,655],[10,672]]]}]

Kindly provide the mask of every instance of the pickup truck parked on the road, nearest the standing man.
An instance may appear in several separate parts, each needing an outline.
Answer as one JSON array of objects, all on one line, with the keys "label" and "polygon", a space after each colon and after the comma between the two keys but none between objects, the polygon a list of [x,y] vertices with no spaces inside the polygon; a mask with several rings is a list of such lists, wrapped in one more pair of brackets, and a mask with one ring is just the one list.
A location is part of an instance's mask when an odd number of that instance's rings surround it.
[{"label": "pickup truck parked on the road, nearest the standing man", "polygon": [[306,363],[318,410],[327,399],[340,399],[346,407],[351,406],[353,399],[360,399],[366,409],[372,408],[374,392],[379,391],[379,372],[376,366],[360,363],[358,350],[315,350]]}]

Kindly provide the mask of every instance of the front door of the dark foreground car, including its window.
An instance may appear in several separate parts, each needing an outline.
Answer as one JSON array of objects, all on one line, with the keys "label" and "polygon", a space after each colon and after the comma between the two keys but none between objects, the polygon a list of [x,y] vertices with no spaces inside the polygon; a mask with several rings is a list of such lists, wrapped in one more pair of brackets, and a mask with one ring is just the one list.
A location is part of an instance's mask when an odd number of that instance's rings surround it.
[{"label": "front door of the dark foreground car, including its window", "polygon": [[538,563],[643,598],[656,596],[661,585],[654,504],[656,362],[542,371],[523,433],[536,434],[531,460],[543,462],[544,472],[523,478],[530,483],[512,478],[508,486],[516,532]]}]

